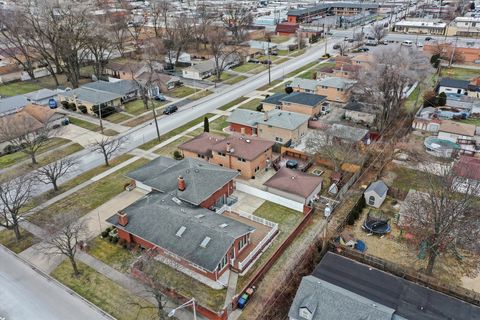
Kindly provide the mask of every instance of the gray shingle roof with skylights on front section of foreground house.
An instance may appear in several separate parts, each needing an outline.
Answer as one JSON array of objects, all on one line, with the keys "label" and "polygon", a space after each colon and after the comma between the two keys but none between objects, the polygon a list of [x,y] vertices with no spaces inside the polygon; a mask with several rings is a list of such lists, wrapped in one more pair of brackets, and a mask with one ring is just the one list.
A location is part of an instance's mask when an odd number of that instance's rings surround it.
[{"label": "gray shingle roof with skylights on front section of foreground house", "polygon": [[[235,239],[255,230],[202,207],[179,205],[170,194],[155,191],[123,211],[128,217],[125,227],[117,225],[117,215],[107,221],[212,272]],[[222,224],[227,226],[222,228]],[[177,236],[182,227],[184,232]],[[200,246],[206,237],[210,241]]]}]

